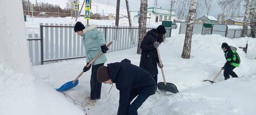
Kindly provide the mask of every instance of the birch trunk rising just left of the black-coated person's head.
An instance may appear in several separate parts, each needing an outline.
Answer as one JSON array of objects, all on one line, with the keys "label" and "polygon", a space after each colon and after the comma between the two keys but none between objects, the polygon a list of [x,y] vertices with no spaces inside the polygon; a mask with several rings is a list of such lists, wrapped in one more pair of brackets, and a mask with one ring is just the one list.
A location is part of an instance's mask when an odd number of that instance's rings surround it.
[{"label": "birch trunk rising just left of the black-coated person's head", "polygon": [[143,40],[143,37],[146,35],[146,22],[147,22],[147,13],[148,13],[148,0],[140,0],[140,17],[139,17],[139,41],[137,54],[141,54],[140,44]]}]

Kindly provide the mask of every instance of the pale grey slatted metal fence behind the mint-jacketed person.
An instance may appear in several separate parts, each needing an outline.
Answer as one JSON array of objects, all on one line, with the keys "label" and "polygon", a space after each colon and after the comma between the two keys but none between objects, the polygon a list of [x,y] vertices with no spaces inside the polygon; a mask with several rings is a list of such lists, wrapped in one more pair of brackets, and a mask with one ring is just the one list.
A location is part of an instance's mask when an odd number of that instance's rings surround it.
[{"label": "pale grey slatted metal fence behind the mint-jacketed person", "polygon": [[[156,27],[147,27],[146,31]],[[98,26],[103,31],[109,47],[108,52],[137,47],[138,27]],[[170,37],[171,28],[166,28],[166,37]],[[28,47],[32,65],[44,64],[64,59],[84,58],[86,53],[81,37],[74,32],[74,25],[40,23],[40,36],[28,34]]]}]

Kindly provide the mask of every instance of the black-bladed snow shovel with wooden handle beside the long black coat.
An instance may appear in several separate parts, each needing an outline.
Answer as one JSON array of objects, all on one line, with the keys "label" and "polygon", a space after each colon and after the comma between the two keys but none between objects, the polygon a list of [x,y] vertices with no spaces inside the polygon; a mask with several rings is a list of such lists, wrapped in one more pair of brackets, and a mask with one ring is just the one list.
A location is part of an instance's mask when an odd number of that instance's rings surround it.
[{"label": "black-bladed snow shovel with wooden handle beside the long black coat", "polygon": [[[156,51],[157,51],[159,63],[160,63],[160,65],[162,66],[162,61],[161,61],[161,58],[160,58],[160,52],[159,52],[158,47],[156,48]],[[165,77],[164,77],[164,69],[161,68],[161,71],[162,71],[162,76],[163,76],[164,82],[159,82],[159,83],[157,84],[158,90],[161,90],[161,91],[163,91],[163,92],[171,92],[171,93],[174,93],[174,94],[177,93],[177,92],[179,92],[178,89],[177,89],[177,87],[176,87],[174,84],[172,84],[172,83],[166,83]]]}]

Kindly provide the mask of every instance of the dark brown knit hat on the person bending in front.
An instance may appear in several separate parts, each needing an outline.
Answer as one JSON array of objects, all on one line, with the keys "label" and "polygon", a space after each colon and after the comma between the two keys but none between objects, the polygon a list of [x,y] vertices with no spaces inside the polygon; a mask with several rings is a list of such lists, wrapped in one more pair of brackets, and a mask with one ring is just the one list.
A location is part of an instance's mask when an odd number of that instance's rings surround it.
[{"label": "dark brown knit hat on the person bending in front", "polygon": [[99,82],[105,82],[111,79],[107,66],[101,66],[100,68],[98,68],[97,79]]}]

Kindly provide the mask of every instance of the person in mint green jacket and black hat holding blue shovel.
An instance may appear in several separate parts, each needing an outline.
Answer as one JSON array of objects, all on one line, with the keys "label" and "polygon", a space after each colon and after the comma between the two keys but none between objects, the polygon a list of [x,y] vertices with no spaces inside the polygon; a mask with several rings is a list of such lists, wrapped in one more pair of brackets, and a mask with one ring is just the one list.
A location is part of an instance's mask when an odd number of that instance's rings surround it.
[{"label": "person in mint green jacket and black hat holding blue shovel", "polygon": [[[90,80],[90,97],[86,97],[89,99],[86,101],[87,104],[95,104],[97,99],[100,99],[101,93],[101,85],[102,83],[97,80],[97,71],[98,68],[104,65],[107,61],[106,51],[108,51],[108,47],[106,47],[106,41],[104,37],[104,33],[102,31],[96,30],[96,25],[90,25],[88,27],[84,27],[84,25],[78,21],[74,27],[74,31],[82,37],[82,44],[84,45],[84,49],[86,51],[86,66],[92,61],[93,58],[96,57],[98,53],[102,51],[102,55],[100,55],[97,60],[92,63],[92,73]],[[83,71],[86,72],[90,70],[90,67],[84,66]]]}]

